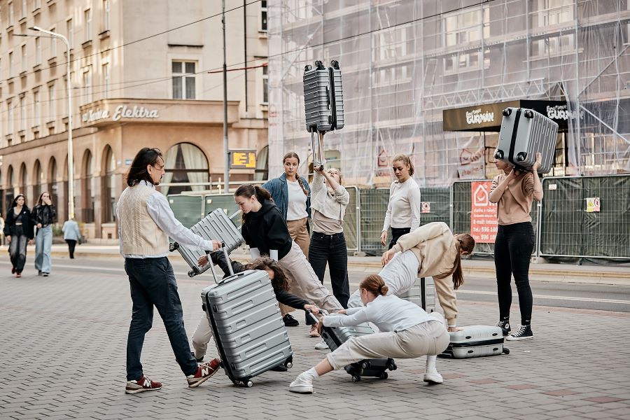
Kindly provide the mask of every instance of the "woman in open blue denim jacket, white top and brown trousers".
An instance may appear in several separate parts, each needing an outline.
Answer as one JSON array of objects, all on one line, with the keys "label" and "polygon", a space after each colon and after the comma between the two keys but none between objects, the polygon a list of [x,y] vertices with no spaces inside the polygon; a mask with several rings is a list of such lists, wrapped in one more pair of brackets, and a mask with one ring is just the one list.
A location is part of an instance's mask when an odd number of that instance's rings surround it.
[{"label": "woman in open blue denim jacket, white top and brown trousers", "polygon": [[[278,178],[269,179],[262,184],[262,188],[269,191],[276,206],[280,209],[286,221],[291,239],[300,246],[302,253],[309,258],[309,218],[311,217],[311,190],[306,179],[297,174],[300,157],[297,153],[289,152],[282,159],[284,174]],[[288,312],[295,309],[280,304],[280,311],[284,324],[288,327],[299,325],[297,320]]]}]

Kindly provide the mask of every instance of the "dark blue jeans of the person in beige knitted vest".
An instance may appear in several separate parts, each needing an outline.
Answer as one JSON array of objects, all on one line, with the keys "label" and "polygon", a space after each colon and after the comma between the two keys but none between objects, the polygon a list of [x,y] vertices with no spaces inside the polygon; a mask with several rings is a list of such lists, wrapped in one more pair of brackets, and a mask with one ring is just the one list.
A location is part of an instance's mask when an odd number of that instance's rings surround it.
[{"label": "dark blue jeans of the person in beige knitted vest", "polygon": [[182,372],[195,374],[197,361],[190,353],[177,283],[168,258],[125,258],[125,271],[129,276],[134,304],[127,337],[127,381],[137,381],[143,374],[140,353],[144,335],[153,325],[153,306],[164,321]]}]

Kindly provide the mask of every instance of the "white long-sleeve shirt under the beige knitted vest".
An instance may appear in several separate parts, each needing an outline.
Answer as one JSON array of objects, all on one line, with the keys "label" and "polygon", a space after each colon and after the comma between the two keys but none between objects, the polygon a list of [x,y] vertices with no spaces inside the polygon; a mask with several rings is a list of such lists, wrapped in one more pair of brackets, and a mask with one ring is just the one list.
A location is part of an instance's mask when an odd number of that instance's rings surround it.
[{"label": "white long-sleeve shirt under the beige knitted vest", "polygon": [[[141,181],[146,186],[149,186],[155,190],[155,186],[148,181]],[[120,195],[120,199],[118,203],[116,203],[116,217],[120,221],[120,202],[125,197],[125,193],[127,193],[128,188],[125,188],[123,194]],[[158,228],[160,228],[163,232],[165,232],[169,237],[172,237],[180,245],[188,246],[189,248],[197,248],[202,251],[214,250],[214,244],[212,241],[207,241],[203,239],[199,235],[193,233],[192,230],[186,228],[175,218],[171,207],[169,206],[169,202],[166,197],[160,193],[158,190],[155,190],[155,193],[148,198],[146,202],[146,209],[148,211],[149,216],[153,219]],[[219,240],[218,238],[216,240]],[[169,255],[168,253],[163,253],[159,255],[132,255],[132,254],[124,254],[123,253],[123,232],[120,228],[120,223],[118,223],[118,245],[120,246],[120,255],[123,255],[125,258],[161,258]]]}]

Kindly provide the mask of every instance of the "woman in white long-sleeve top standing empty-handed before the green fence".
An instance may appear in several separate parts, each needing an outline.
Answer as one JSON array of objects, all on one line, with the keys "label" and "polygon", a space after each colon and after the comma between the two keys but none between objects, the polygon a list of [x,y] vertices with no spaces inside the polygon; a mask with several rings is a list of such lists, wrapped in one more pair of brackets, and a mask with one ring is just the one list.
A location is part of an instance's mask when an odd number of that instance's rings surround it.
[{"label": "woman in white long-sleeve top standing empty-handed before the green fence", "polygon": [[389,188],[389,202],[381,232],[381,245],[384,246],[391,228],[391,241],[387,249],[391,249],[399,237],[419,227],[421,212],[420,188],[412,178],[413,162],[407,155],[395,155],[391,167],[396,181]]}]

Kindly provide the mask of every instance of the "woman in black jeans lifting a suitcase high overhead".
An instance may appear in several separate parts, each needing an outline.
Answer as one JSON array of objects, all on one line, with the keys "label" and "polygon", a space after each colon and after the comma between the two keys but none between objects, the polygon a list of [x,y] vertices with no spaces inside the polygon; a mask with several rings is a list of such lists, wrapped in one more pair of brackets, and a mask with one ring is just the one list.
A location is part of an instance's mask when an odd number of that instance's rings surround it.
[{"label": "woman in black jeans lifting a suitcase high overhead", "polygon": [[[323,141],[323,133],[319,134],[319,141]],[[344,237],[344,215],[346,206],[350,202],[350,195],[341,185],[339,169],[320,169],[323,165],[325,165],[325,160],[314,162],[313,165],[315,172],[311,189],[313,235],[308,258],[322,284],[326,264],[328,264],[332,294],[337,297],[342,307],[347,308],[350,286],[348,248],[346,237]],[[308,323],[312,323],[309,335],[319,337],[317,325],[309,318],[307,318]]]}]

